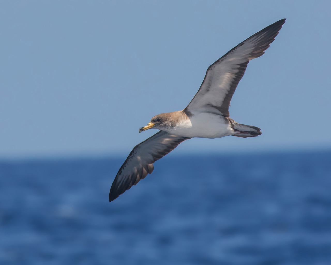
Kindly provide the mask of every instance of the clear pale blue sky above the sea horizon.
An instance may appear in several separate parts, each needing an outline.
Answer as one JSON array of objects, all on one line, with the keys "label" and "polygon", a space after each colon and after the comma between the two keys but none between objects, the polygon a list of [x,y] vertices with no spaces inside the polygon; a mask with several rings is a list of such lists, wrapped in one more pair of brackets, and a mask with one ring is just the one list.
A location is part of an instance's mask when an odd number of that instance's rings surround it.
[{"label": "clear pale blue sky above the sea horizon", "polygon": [[[127,154],[150,118],[186,107],[206,69],[282,18],[230,116],[255,138],[175,152],[331,147],[330,1],[2,1],[0,157]],[[178,149],[178,150],[177,150]]]}]

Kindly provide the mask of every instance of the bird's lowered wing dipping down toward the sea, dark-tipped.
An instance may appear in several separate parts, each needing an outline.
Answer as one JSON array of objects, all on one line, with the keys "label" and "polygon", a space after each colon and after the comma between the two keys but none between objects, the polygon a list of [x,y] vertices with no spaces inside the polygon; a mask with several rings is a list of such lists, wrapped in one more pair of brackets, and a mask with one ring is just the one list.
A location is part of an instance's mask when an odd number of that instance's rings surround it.
[{"label": "bird's lowered wing dipping down toward the sea, dark-tipped", "polygon": [[109,201],[115,200],[147,174],[151,174],[155,161],[170,153],[178,144],[187,139],[190,138],[160,131],[136,145],[118,170],[110,188]]}]

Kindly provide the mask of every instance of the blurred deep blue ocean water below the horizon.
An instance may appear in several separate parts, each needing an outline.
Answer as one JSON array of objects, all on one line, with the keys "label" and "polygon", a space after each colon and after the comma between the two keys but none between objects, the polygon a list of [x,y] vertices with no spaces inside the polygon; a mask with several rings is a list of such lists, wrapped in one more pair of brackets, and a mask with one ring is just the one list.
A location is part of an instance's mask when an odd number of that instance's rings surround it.
[{"label": "blurred deep blue ocean water below the horizon", "polygon": [[0,162],[0,264],[331,264],[331,151]]}]

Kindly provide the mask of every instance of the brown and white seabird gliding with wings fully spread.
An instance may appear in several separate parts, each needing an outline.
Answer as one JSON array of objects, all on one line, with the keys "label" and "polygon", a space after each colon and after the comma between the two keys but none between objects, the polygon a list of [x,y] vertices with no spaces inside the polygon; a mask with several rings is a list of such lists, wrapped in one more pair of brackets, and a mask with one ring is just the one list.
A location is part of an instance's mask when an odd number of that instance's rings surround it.
[{"label": "brown and white seabird gliding with wings fully spread", "polygon": [[151,128],[160,131],[133,148],[118,170],[109,201],[151,174],[153,163],[184,140],[228,135],[246,138],[261,134],[260,128],[239,124],[230,118],[230,101],[248,62],[264,53],[284,23],[285,19],[282,19],[263,28],[214,62],[185,109],[156,115],[147,126],[139,129],[139,132]]}]

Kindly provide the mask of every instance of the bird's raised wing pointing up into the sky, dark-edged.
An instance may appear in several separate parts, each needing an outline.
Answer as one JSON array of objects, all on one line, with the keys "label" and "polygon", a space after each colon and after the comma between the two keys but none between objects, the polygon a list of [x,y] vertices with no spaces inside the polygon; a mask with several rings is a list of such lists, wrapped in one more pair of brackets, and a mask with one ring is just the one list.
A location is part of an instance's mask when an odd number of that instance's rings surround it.
[{"label": "bird's raised wing pointing up into the sky, dark-edged", "polygon": [[249,60],[264,53],[284,23],[285,19],[282,19],[263,28],[214,62],[207,69],[197,94],[185,108],[186,114],[209,112],[229,117],[231,98]]}]

